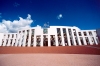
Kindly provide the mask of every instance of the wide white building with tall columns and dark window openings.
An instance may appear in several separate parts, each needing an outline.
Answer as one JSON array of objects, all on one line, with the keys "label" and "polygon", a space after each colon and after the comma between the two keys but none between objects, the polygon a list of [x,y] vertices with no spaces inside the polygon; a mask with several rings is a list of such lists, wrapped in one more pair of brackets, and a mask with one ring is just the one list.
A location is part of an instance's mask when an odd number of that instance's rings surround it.
[{"label": "wide white building with tall columns and dark window openings", "polygon": [[80,30],[70,26],[41,26],[19,30],[18,33],[0,33],[0,46],[78,46],[99,44],[96,30]]}]

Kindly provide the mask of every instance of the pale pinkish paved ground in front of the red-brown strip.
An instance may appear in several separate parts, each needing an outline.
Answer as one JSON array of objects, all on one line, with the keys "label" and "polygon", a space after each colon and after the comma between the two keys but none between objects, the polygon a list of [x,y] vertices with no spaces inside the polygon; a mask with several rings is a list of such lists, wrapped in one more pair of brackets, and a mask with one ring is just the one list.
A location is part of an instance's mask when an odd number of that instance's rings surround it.
[{"label": "pale pinkish paved ground in front of the red-brown strip", "polygon": [[1,54],[0,66],[100,66],[100,55]]}]

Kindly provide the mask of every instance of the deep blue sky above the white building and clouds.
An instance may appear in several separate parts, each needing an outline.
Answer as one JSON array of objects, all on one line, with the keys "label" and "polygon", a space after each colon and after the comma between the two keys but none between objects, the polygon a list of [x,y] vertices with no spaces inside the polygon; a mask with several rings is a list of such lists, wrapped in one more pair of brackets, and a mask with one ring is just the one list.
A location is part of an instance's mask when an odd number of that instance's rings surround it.
[{"label": "deep blue sky above the white building and clouds", "polygon": [[100,0],[0,0],[1,23],[3,19],[25,19],[28,14],[31,27],[49,22],[51,26],[100,28]]}]

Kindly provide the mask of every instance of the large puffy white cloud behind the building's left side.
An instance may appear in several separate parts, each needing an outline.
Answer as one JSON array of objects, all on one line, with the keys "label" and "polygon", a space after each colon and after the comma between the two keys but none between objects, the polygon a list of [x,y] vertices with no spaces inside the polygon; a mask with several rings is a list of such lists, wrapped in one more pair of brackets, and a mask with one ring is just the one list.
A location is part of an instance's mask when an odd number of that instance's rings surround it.
[{"label": "large puffy white cloud behind the building's left side", "polygon": [[30,14],[28,14],[26,19],[19,17],[19,20],[14,21],[2,20],[2,22],[0,22],[0,33],[15,33],[23,28],[30,28],[32,22],[33,20]]}]

